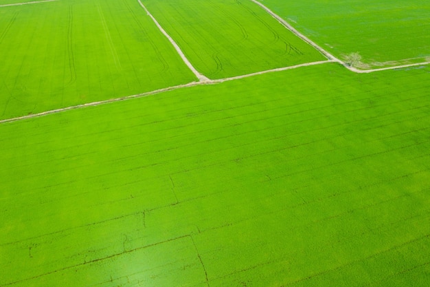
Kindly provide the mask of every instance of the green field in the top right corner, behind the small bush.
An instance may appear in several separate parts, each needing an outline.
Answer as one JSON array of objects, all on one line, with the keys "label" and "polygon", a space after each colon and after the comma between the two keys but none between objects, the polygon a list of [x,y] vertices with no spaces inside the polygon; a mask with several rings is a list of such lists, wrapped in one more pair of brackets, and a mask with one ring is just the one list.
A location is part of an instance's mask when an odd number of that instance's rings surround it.
[{"label": "green field in the top right corner, behind the small bush", "polygon": [[324,49],[363,67],[430,61],[430,2],[421,0],[264,0]]}]

